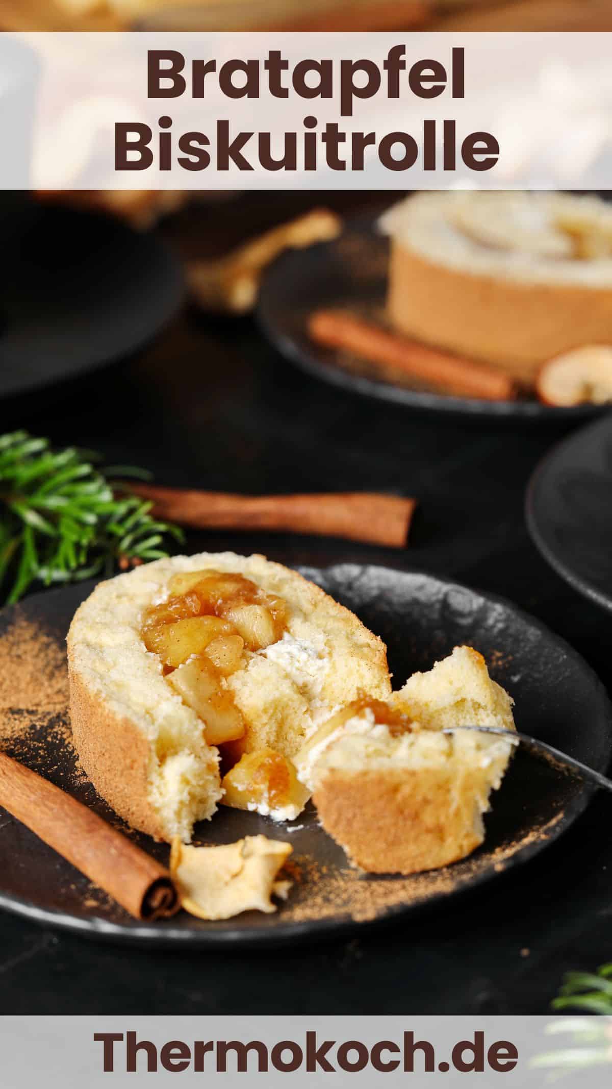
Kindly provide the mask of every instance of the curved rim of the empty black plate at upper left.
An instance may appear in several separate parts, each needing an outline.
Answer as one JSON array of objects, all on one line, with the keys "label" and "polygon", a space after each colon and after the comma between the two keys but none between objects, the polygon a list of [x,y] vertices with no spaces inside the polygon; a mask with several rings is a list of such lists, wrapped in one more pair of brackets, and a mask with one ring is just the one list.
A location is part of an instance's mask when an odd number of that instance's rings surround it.
[{"label": "curved rim of the empty black plate at upper left", "polygon": [[44,393],[46,390],[51,389],[56,384],[78,380],[87,375],[94,375],[105,367],[110,367],[113,363],[118,363],[121,359],[131,358],[151,344],[152,341],[155,341],[155,339],[163,331],[163,329],[170,325],[172,319],[183,306],[185,299],[185,277],[181,262],[173,253],[172,247],[156,230],[146,232],[137,231],[136,229],[130,227],[128,223],[115,217],[108,215],[105,216],[99,211],[90,211],[81,208],[76,209],[63,206],[49,206],[44,209],[44,213],[46,216],[56,213],[65,217],[74,217],[75,219],[78,219],[79,223],[85,225],[85,229],[88,222],[108,220],[112,228],[118,232],[122,232],[125,237],[136,237],[139,243],[142,243],[144,238],[151,252],[155,250],[166,266],[168,278],[168,304],[155,314],[155,317],[151,318],[149,327],[145,332],[139,335],[133,335],[131,340],[126,340],[125,345],[120,350],[114,351],[112,354],[100,355],[98,358],[90,359],[87,363],[79,365],[77,368],[69,370],[60,370],[58,368],[53,370],[52,374],[30,376],[29,380],[24,382],[24,384],[19,388],[5,390],[3,392],[0,391],[0,403],[9,403],[11,400],[16,400],[19,397]]}]

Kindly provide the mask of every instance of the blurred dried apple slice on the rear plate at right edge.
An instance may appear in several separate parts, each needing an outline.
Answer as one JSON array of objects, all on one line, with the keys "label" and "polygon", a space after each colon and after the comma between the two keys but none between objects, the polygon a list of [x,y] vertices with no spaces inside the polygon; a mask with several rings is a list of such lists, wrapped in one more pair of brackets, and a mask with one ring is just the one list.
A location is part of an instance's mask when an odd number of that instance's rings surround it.
[{"label": "blurred dried apple slice on the rear plate at right edge", "polygon": [[536,392],[560,407],[612,401],[612,347],[591,344],[556,356],[541,368]]}]

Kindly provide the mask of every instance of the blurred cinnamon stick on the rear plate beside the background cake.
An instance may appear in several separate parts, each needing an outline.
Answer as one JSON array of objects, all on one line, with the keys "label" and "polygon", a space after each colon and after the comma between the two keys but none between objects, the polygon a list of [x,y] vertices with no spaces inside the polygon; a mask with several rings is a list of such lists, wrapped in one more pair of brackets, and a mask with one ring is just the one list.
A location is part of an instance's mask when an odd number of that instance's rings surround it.
[{"label": "blurred cinnamon stick on the rear plate beside the background cake", "polygon": [[308,332],[318,344],[344,348],[372,363],[394,367],[457,396],[484,401],[513,401],[516,396],[515,383],[509,375],[473,359],[426,347],[344,310],[316,310],[310,315]]}]

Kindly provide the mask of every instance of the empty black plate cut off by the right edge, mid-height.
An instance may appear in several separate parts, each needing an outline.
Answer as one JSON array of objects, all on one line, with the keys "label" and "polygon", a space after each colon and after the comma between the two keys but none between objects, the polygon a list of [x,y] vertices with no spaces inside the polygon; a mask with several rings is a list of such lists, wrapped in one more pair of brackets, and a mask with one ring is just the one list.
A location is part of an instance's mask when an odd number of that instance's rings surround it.
[{"label": "empty black plate cut off by the right edge, mid-height", "polygon": [[562,578],[612,609],[612,415],[547,454],[527,491],[527,525]]}]

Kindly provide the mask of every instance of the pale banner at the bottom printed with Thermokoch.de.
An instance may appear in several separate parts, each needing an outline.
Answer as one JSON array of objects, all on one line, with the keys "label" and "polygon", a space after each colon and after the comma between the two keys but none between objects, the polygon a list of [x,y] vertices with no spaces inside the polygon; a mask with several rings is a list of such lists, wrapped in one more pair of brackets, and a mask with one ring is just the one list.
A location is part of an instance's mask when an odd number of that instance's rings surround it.
[{"label": "pale banner at the bottom printed with Thermokoch.de", "polygon": [[612,1018],[593,1016],[3,1017],[1,1084],[157,1087],[182,1074],[181,1085],[227,1089],[539,1089],[559,1078],[603,1089],[611,1029]]}]

